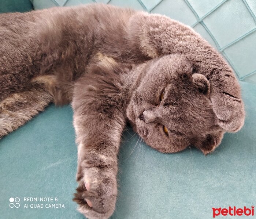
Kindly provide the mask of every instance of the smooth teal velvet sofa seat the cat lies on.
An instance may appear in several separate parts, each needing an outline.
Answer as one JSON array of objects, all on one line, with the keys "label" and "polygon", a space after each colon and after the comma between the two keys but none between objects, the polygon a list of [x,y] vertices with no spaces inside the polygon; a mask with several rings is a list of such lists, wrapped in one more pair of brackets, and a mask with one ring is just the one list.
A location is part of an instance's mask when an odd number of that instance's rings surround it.
[{"label": "smooth teal velvet sofa seat the cat lies on", "polygon": [[[212,218],[212,207],[255,205],[256,86],[241,85],[245,125],[237,133],[226,133],[206,157],[193,148],[159,153],[127,128],[120,147],[113,219]],[[83,218],[72,201],[77,185],[72,114],[69,105],[51,105],[0,140],[0,218]],[[20,198],[19,208],[10,208],[10,197]],[[65,208],[24,208],[46,204],[25,202],[24,197],[57,197],[56,203]]]}]

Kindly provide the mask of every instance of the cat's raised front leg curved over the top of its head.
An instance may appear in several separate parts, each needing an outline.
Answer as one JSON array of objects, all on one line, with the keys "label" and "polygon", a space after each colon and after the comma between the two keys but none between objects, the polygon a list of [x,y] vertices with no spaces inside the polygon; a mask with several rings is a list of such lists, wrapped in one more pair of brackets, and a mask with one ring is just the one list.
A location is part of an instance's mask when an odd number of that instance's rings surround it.
[{"label": "cat's raised front leg curved over the top of its head", "polygon": [[237,78],[218,51],[192,28],[167,16],[138,12],[130,18],[127,34],[130,46],[150,58],[185,54],[194,73],[203,74],[211,84],[216,124],[226,131],[240,130],[245,111]]}]

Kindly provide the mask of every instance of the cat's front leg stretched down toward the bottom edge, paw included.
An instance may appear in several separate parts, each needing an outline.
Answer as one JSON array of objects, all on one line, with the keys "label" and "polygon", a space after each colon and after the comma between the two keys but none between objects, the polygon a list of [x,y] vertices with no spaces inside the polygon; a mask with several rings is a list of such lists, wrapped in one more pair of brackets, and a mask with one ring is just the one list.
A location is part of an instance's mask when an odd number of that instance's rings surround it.
[{"label": "cat's front leg stretched down toward the bottom edge, paw included", "polygon": [[[89,219],[109,218],[115,210],[118,150],[125,126],[125,110],[113,81],[100,76],[80,78],[72,107],[78,143],[79,183],[73,199]],[[88,85],[89,84],[89,85]]]}]

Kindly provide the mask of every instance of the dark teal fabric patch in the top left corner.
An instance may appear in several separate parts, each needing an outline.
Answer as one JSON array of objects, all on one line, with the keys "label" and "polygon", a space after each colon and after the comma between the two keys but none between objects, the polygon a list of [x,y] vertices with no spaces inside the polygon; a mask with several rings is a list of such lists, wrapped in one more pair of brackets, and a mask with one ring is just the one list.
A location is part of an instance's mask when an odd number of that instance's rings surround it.
[{"label": "dark teal fabric patch in the top left corner", "polygon": [[33,10],[30,0],[0,0],[0,13]]}]

